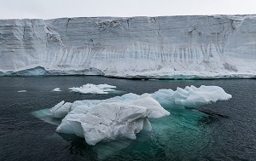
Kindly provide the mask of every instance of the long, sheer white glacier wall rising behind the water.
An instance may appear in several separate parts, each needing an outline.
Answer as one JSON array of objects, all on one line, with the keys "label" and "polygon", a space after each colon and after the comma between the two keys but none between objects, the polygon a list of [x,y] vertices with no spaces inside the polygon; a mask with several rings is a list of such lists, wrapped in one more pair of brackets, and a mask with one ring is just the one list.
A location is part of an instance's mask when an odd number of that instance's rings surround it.
[{"label": "long, sheer white glacier wall rising behind the water", "polygon": [[254,78],[255,60],[254,15],[0,20],[0,75]]}]

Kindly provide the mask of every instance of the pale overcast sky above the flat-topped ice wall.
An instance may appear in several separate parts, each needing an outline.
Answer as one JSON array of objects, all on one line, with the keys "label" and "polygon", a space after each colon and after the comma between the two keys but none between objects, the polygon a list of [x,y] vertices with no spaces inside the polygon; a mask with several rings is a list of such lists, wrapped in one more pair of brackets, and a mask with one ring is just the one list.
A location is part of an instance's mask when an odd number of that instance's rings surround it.
[{"label": "pale overcast sky above the flat-topped ice wall", "polygon": [[256,14],[256,0],[0,0],[0,19]]}]

